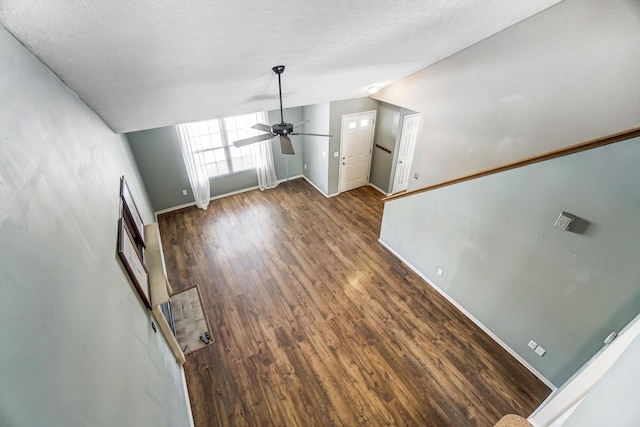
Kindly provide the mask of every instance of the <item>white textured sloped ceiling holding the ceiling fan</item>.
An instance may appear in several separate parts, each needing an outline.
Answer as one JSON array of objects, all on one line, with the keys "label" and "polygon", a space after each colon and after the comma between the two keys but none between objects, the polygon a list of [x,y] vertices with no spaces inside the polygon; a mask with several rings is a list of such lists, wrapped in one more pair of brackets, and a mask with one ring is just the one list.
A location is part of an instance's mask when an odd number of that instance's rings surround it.
[{"label": "white textured sloped ceiling holding the ceiling fan", "polygon": [[560,0],[0,0],[116,132],[367,96]]}]

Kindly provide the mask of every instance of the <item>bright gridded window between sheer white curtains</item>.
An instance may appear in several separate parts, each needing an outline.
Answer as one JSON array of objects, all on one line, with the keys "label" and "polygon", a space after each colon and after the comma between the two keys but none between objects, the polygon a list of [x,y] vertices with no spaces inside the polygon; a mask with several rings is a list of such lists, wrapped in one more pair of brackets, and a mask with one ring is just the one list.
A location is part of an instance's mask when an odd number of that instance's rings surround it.
[{"label": "bright gridded window between sheer white curtains", "polygon": [[262,134],[263,132],[252,129],[251,126],[266,122],[266,113],[259,112],[186,123],[183,126],[193,142],[196,159],[206,166],[209,178],[215,178],[255,169],[257,144],[236,148],[233,141]]}]

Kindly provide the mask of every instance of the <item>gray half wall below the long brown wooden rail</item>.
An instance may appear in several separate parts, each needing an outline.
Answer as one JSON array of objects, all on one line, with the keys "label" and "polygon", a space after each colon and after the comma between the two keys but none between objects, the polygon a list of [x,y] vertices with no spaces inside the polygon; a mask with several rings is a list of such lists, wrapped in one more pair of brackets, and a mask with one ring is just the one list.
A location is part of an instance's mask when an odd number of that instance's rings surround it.
[{"label": "gray half wall below the long brown wooden rail", "polygon": [[390,201],[380,239],[560,385],[639,312],[638,164],[633,139]]}]

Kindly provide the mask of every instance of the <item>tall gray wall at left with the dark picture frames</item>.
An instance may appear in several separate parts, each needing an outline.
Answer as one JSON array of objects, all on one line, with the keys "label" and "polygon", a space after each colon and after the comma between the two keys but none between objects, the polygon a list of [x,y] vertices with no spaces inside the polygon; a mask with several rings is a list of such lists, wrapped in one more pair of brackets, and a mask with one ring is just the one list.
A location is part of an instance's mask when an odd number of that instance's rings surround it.
[{"label": "tall gray wall at left with the dark picture frames", "polygon": [[179,366],[116,255],[115,135],[0,28],[0,425],[186,426]]}]

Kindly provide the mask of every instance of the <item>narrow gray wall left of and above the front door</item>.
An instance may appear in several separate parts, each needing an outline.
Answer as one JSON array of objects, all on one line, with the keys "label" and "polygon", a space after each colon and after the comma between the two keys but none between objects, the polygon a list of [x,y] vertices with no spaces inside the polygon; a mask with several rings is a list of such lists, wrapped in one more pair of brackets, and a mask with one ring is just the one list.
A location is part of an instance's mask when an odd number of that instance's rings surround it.
[{"label": "narrow gray wall left of and above the front door", "polygon": [[338,192],[340,179],[340,156],[333,157],[333,153],[340,152],[340,128],[342,127],[342,116],[345,114],[360,113],[363,111],[377,111],[378,101],[371,98],[355,98],[330,103],[330,128],[329,133],[333,138],[329,141],[329,170],[328,170],[328,192],[336,194]]}]

